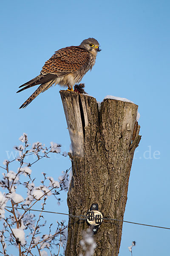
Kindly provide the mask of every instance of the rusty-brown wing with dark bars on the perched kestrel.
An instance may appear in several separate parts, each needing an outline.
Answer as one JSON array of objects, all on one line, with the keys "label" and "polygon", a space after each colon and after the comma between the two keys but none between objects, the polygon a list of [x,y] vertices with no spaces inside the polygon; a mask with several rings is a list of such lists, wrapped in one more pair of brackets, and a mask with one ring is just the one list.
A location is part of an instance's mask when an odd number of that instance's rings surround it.
[{"label": "rusty-brown wing with dark bars on the perched kestrel", "polygon": [[80,47],[65,47],[59,49],[45,62],[41,74],[53,74],[65,76],[79,70],[81,65],[88,65],[90,54],[87,50]]}]

